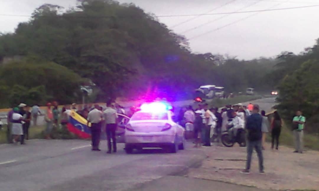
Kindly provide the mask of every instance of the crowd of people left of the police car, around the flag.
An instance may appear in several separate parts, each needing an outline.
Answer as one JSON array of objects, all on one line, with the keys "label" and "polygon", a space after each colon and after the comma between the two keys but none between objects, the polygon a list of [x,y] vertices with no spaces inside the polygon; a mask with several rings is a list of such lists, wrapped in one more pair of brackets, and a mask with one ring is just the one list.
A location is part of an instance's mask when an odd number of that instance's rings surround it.
[{"label": "crowd of people left of the police car, around the flag", "polygon": [[[33,126],[37,126],[38,117],[40,115],[44,115],[44,136],[46,139],[51,139],[52,130],[54,128],[66,128],[66,124],[68,124],[69,114],[71,110],[77,112],[83,118],[89,119],[89,113],[95,109],[99,110],[100,112],[103,112],[104,124],[101,124],[101,127],[103,125],[106,126],[106,124],[108,124],[108,128],[106,128],[105,132],[107,133],[108,140],[109,138],[112,138],[113,143],[115,144],[116,125],[114,125],[114,123],[112,122],[113,119],[110,119],[108,115],[111,115],[109,112],[110,110],[113,112],[113,109],[115,110],[115,113],[123,115],[125,114],[125,110],[123,109],[123,107],[117,103],[109,103],[109,105],[107,105],[104,108],[99,105],[93,106],[92,104],[86,104],[84,106],[81,106],[77,105],[76,103],[73,103],[71,105],[64,105],[62,109],[59,109],[58,103],[52,102],[46,104],[46,108],[44,111],[41,111],[38,104],[30,108],[30,106],[26,105],[25,103],[20,103],[17,107],[14,107],[7,113],[7,142],[15,144],[20,142],[21,145],[26,144],[25,139],[29,139],[30,125],[32,124]],[[129,113],[127,115],[130,115]],[[117,121],[122,119],[123,117],[116,118]],[[91,130],[94,131],[94,127],[91,127]],[[95,134],[93,132],[93,142],[96,143],[96,140],[100,139],[100,135],[98,135],[98,138],[94,136]],[[96,150],[95,147],[94,150]],[[113,150],[116,152],[116,146],[113,146]]]}]

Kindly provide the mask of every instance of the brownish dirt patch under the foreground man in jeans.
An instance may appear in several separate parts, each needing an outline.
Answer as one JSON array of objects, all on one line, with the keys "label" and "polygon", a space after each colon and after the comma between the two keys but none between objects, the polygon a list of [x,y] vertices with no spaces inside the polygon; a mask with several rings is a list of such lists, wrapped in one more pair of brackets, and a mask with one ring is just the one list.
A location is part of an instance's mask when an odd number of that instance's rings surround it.
[{"label": "brownish dirt patch under the foreground man in jeans", "polygon": [[[269,146],[267,146],[269,148]],[[266,150],[265,174],[258,172],[253,154],[251,173],[241,174],[246,163],[246,148],[219,146],[201,148],[209,156],[200,168],[189,169],[188,176],[274,190],[317,190],[319,188],[319,152],[293,153],[284,146],[279,151]]]}]

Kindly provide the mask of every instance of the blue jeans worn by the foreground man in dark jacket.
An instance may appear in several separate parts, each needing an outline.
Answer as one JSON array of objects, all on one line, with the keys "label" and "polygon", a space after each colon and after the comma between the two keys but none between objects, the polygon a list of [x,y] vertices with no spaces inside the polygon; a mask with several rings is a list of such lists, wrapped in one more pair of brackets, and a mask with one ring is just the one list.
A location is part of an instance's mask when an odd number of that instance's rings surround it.
[{"label": "blue jeans worn by the foreground man in dark jacket", "polygon": [[247,141],[247,161],[246,170],[250,169],[251,155],[253,154],[253,149],[255,148],[259,161],[259,171],[263,171],[263,152],[261,140],[258,141]]}]

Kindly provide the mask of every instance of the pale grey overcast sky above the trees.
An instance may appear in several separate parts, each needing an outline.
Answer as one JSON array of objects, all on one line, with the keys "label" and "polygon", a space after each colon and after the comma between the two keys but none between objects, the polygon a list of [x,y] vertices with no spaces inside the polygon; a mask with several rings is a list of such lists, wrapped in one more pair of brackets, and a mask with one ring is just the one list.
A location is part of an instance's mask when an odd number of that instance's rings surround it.
[{"label": "pale grey overcast sky above the trees", "polygon": [[[119,2],[132,2],[145,12],[159,16],[203,14],[214,9],[210,13],[319,5],[319,0],[119,0]],[[44,3],[68,8],[75,4],[75,0],[0,0],[0,14],[31,15],[35,8]],[[229,54],[241,59],[271,57],[282,51],[299,53],[304,48],[313,46],[315,39],[319,38],[319,7],[254,14],[207,15],[196,18],[159,17],[159,21],[174,32],[190,39],[193,52]],[[213,31],[248,16],[251,17]],[[173,27],[191,18],[194,19]],[[14,32],[19,22],[28,20],[28,17],[0,15],[0,32]],[[209,21],[214,22],[182,33]],[[193,38],[196,36],[198,37]]]}]

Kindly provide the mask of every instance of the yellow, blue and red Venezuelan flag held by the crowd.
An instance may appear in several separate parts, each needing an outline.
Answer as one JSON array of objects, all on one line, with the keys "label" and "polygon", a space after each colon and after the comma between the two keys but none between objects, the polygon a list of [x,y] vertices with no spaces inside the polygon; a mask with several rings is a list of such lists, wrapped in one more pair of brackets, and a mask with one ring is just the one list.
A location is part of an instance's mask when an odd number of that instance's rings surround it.
[{"label": "yellow, blue and red Venezuelan flag held by the crowd", "polygon": [[80,138],[90,138],[91,130],[86,124],[87,121],[85,118],[73,110],[70,111],[69,123],[67,125],[70,132],[76,134]]}]

